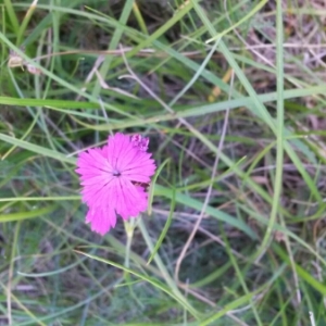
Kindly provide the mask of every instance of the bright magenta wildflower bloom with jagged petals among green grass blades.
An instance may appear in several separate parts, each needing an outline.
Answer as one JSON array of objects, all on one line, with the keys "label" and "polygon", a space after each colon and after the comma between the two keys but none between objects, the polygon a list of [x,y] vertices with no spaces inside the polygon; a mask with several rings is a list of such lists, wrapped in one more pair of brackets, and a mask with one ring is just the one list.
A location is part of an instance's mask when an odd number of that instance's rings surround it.
[{"label": "bright magenta wildflower bloom with jagged petals among green grass blades", "polygon": [[146,184],[155,172],[147,153],[149,139],[140,135],[115,134],[108,145],[82,152],[76,172],[80,174],[83,201],[88,205],[86,223],[102,236],[124,220],[147,210]]}]

